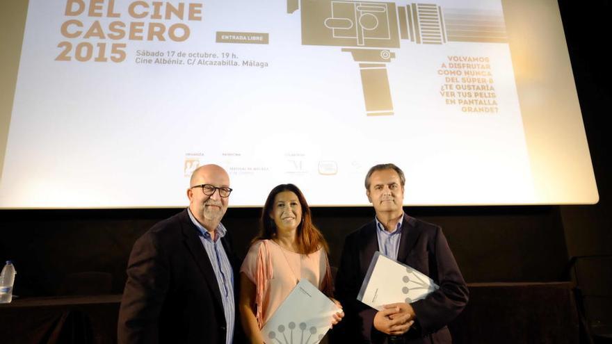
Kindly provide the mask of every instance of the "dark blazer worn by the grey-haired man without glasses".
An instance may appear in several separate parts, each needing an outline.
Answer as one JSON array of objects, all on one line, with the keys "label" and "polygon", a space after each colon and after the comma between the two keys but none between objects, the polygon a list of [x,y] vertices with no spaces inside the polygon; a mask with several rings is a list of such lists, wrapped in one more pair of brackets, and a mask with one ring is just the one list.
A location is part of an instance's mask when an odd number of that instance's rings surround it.
[{"label": "dark blazer worn by the grey-haired man without glasses", "polygon": [[[467,304],[468,291],[442,229],[404,215],[397,260],[428,275],[440,289],[413,302],[415,325],[404,334],[405,343],[451,343],[446,325]],[[345,319],[335,338],[346,343],[385,343],[387,335],[373,326],[376,309],[356,300],[374,252],[378,251],[376,221],[349,234],[344,241],[336,277],[336,296]]]}]

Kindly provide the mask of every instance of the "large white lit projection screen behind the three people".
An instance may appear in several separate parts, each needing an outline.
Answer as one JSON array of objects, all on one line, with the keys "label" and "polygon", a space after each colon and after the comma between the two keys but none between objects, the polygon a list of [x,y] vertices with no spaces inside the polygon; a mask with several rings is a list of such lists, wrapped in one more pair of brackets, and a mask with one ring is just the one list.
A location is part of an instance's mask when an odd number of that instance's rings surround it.
[{"label": "large white lit projection screen behind the three people", "polygon": [[552,0],[2,1],[0,208],[594,204]]}]

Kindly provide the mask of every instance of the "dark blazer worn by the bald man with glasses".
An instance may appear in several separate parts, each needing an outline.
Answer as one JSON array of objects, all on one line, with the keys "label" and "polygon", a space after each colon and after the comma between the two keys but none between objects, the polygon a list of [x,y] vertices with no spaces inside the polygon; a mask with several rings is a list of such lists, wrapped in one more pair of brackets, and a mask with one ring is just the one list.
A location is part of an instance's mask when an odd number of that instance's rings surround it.
[{"label": "dark blazer worn by the bald man with glasses", "polygon": [[[239,261],[229,231],[221,243],[234,269],[238,295]],[[236,313],[236,334],[241,331],[238,318]],[[225,344],[225,334],[217,279],[198,229],[184,210],[155,224],[134,243],[119,311],[118,341]]]}]

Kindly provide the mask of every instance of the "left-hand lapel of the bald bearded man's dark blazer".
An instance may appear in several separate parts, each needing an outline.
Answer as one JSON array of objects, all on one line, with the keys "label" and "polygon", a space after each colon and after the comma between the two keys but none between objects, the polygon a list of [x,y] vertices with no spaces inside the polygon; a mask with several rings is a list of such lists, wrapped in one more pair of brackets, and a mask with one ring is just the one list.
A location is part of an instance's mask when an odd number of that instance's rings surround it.
[{"label": "left-hand lapel of the bald bearded man's dark blazer", "polygon": [[183,241],[191,253],[193,260],[198,264],[200,272],[204,275],[204,280],[208,284],[211,293],[214,295],[217,305],[223,310],[223,301],[221,300],[221,292],[219,290],[215,271],[213,270],[213,265],[211,265],[206,249],[204,249],[204,245],[202,245],[202,241],[200,241],[198,229],[195,227],[195,224],[191,222],[186,210],[182,213],[180,223]]}]

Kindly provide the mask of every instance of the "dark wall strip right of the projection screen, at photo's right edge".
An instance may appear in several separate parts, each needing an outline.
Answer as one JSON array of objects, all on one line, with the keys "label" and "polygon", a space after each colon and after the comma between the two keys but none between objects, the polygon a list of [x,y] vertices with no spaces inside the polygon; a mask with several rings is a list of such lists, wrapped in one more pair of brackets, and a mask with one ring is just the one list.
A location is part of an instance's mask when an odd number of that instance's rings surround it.
[{"label": "dark wall strip right of the projection screen, at photo's right edge", "polygon": [[561,206],[561,218],[568,255],[576,257],[573,278],[583,295],[593,334],[612,334],[612,140],[608,124],[612,73],[605,51],[612,3],[577,6],[566,0],[559,2],[559,8],[599,189],[599,203]]}]

